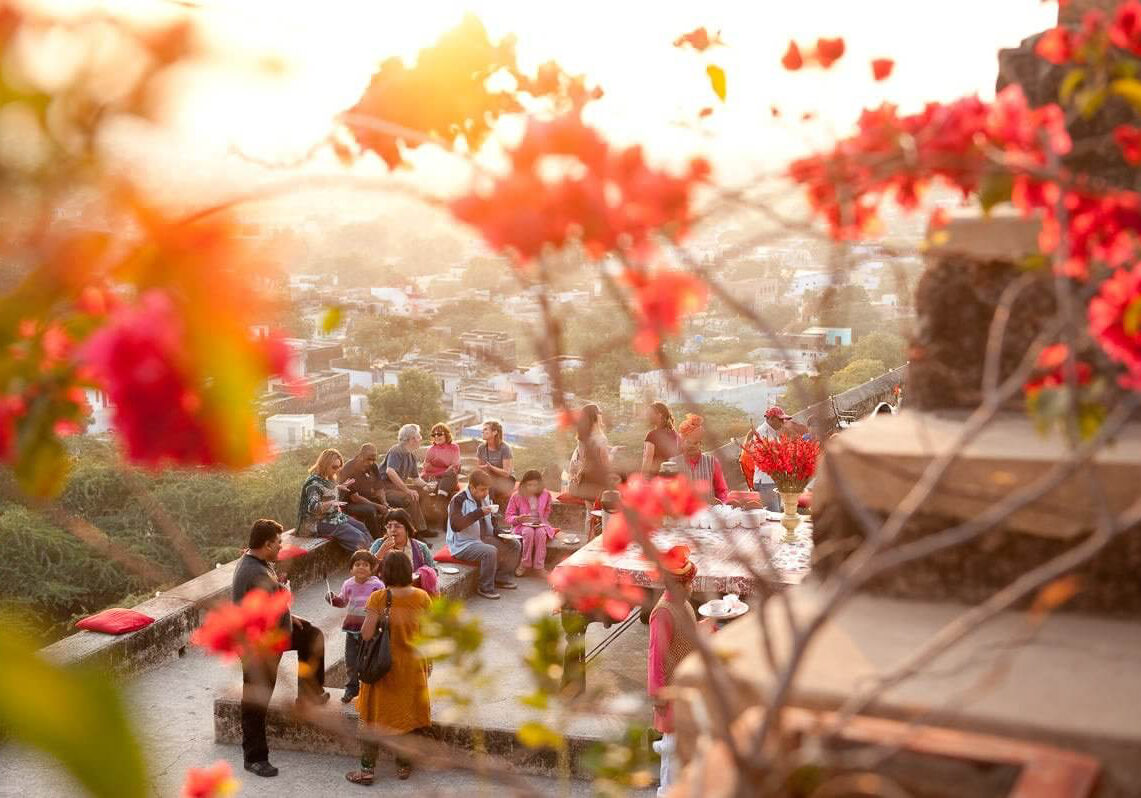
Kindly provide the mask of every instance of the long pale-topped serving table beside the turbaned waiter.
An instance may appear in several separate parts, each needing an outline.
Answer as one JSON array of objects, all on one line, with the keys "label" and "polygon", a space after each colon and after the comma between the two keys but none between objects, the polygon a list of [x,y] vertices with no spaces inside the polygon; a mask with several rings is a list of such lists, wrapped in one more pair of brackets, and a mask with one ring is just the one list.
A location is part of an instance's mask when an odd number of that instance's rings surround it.
[{"label": "long pale-topped serving table beside the turbaned waiter", "polygon": [[[785,542],[785,529],[779,522],[768,521],[763,510],[736,517],[739,525],[721,526],[713,514],[703,514],[683,525],[666,526],[655,532],[650,540],[658,550],[683,543],[697,566],[694,593],[735,593],[751,596],[786,586],[799,585],[808,575],[812,555],[812,522],[803,517],[796,530],[796,540]],[[750,573],[748,563],[760,574]],[[767,566],[771,565],[766,578]],[[601,564],[614,569],[617,578],[628,579],[644,588],[642,619],[648,619],[657,596],[665,585],[653,563],[642,557],[641,547],[632,545],[618,555],[602,548],[601,537],[594,538],[555,569],[574,569]],[[762,585],[762,582],[764,585]],[[563,611],[563,629],[567,645],[563,662],[563,686],[568,693],[582,692],[586,685],[585,636],[591,622],[612,622],[601,615],[586,616],[573,610]]]}]

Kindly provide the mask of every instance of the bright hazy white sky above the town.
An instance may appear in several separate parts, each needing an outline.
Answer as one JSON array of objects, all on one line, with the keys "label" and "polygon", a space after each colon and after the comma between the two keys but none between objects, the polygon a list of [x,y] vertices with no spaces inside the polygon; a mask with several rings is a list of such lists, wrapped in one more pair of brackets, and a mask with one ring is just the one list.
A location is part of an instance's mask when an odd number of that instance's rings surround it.
[{"label": "bright hazy white sky above the town", "polygon": [[[642,143],[666,162],[710,155],[729,182],[826,146],[850,129],[861,107],[884,99],[906,108],[925,99],[992,95],[996,51],[1057,16],[1055,5],[1039,0],[202,0],[192,11],[164,0],[105,5],[144,15],[192,14],[227,54],[227,63],[178,76],[173,137],[131,131],[147,143],[143,158],[156,159],[165,179],[211,183],[256,177],[257,170],[226,155],[230,147],[269,160],[308,150],[332,116],[356,100],[382,57],[411,58],[466,10],[485,22],[493,39],[516,33],[524,66],[553,58],[601,86],[606,97],[590,107],[588,119],[615,140]],[[678,34],[698,25],[721,30],[728,47],[705,54],[671,47]],[[848,51],[836,67],[801,73],[780,67],[791,38],[812,42],[819,35],[844,37]],[[284,64],[284,73],[254,76],[250,65],[269,56]],[[871,78],[868,62],[875,57],[897,62],[883,83]],[[710,90],[710,63],[728,74],[725,105]],[[717,111],[698,122],[706,105]],[[771,119],[771,105],[785,112],[780,120]],[[803,112],[817,121],[802,124]],[[508,122],[500,138],[515,135],[518,124]],[[416,179],[434,188],[467,179],[454,156],[423,153],[415,162]],[[325,154],[305,170],[340,167]],[[383,174],[377,163],[354,171]]]}]

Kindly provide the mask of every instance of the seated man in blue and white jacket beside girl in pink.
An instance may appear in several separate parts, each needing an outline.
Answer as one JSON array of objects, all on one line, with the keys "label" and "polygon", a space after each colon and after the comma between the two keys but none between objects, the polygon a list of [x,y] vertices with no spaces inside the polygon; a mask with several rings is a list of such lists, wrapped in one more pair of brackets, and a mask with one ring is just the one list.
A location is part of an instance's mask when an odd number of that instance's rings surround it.
[{"label": "seated man in blue and white jacket beside girl in pink", "polygon": [[447,547],[455,559],[479,564],[479,595],[499,598],[496,587],[513,590],[511,572],[519,564],[519,541],[495,534],[492,502],[487,500],[491,477],[474,471],[468,490],[447,502]]}]

